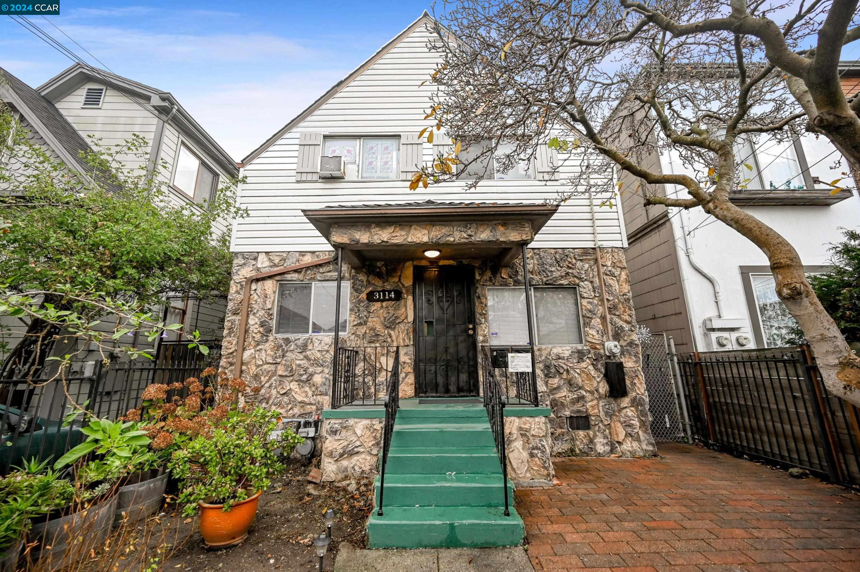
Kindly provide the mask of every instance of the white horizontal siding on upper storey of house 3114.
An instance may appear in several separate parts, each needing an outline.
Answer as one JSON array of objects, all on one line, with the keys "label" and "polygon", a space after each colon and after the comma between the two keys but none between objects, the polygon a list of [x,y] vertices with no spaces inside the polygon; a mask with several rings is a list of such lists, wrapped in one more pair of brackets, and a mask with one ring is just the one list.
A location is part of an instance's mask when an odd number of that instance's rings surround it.
[{"label": "white horizontal siding on upper storey of house 3114", "polygon": [[[488,180],[466,192],[465,183],[445,183],[408,190],[408,181],[296,181],[298,134],[395,135],[417,133],[431,120],[424,115],[435,87],[420,86],[437,67],[439,57],[427,51],[430,35],[418,27],[390,49],[360,76],[342,88],[316,112],[243,168],[240,204],[250,215],[235,222],[232,250],[320,251],[329,243],[304,218],[301,210],[337,204],[397,204],[408,201],[469,201],[538,204],[569,191],[562,181]],[[273,127],[275,127],[273,125]],[[439,132],[437,131],[437,134]],[[439,137],[439,135],[437,135]],[[424,161],[431,161],[433,146],[424,144]],[[562,156],[564,173],[579,168],[574,156]],[[599,207],[594,200],[599,241],[605,246],[624,246],[618,207]],[[583,247],[594,245],[591,205],[577,196],[559,207],[553,219],[537,234],[531,246]]]}]

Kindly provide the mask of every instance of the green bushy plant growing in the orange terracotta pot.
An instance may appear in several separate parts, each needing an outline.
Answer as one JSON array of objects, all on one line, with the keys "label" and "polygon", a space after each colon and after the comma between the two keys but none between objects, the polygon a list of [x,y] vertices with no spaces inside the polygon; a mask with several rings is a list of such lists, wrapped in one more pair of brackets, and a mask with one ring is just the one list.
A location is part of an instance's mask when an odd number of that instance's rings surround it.
[{"label": "green bushy plant growing in the orange terracotta pot", "polygon": [[261,407],[230,411],[209,435],[199,435],[173,453],[169,467],[180,479],[182,514],[194,514],[199,501],[224,504],[226,511],[267,490],[271,478],[283,470],[275,453],[279,442],[268,438],[278,417],[277,411]]}]

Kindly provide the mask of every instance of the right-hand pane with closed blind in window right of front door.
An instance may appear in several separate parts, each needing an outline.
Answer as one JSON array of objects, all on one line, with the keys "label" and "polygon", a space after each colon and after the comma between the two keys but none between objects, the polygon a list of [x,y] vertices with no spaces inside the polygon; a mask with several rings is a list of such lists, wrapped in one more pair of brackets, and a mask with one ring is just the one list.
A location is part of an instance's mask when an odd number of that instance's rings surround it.
[{"label": "right-hand pane with closed blind in window right of front door", "polygon": [[537,344],[582,344],[580,308],[575,288],[534,288],[531,295],[535,304]]}]

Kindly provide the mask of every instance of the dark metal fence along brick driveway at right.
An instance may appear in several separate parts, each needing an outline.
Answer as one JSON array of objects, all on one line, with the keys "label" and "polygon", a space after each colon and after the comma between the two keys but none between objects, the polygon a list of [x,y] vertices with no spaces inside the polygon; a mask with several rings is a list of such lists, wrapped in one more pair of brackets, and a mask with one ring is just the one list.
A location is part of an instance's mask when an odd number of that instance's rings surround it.
[{"label": "dark metal fence along brick driveway at right", "polygon": [[860,484],[860,412],[832,397],[808,346],[679,356],[697,438]]}]

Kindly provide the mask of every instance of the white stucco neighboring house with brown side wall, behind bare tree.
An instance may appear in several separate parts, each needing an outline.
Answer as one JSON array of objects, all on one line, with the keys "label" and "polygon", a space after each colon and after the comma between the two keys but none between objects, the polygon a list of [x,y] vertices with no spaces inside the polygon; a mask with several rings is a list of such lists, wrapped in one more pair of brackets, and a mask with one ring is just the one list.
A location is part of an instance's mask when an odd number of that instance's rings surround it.
[{"label": "white stucco neighboring house with brown side wall, behind bare tree", "polygon": [[[828,246],[842,240],[840,228],[860,226],[860,197],[855,180],[843,174],[845,159],[825,137],[811,134],[787,143],[761,136],[738,153],[753,171],[744,168],[751,181],[732,202],[782,234],[808,272],[825,271]],[[649,167],[685,173],[679,158],[665,152]],[[832,194],[826,183],[834,180],[843,189]],[[680,186],[659,188],[688,196]],[[701,208],[645,207],[633,195],[624,198],[624,218],[640,324],[673,336],[679,351],[787,344],[794,319],[777,298],[765,254],[751,241]]]}]

